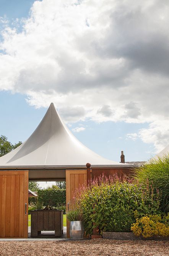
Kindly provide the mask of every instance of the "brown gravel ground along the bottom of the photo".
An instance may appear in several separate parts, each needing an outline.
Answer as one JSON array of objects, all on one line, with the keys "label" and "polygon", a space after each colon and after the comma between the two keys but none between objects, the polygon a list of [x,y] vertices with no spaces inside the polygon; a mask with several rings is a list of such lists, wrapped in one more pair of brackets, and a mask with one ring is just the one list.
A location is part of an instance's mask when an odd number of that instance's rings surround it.
[{"label": "brown gravel ground along the bottom of the photo", "polygon": [[0,241],[0,256],[169,256],[168,241]]}]

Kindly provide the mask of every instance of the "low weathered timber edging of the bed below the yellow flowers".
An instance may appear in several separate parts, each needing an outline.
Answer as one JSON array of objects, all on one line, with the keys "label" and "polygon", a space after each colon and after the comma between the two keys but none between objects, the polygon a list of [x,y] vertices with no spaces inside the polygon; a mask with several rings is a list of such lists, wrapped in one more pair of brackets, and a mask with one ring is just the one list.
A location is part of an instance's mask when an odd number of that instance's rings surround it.
[{"label": "low weathered timber edging of the bed below the yellow flowers", "polygon": [[143,236],[135,236],[132,232],[103,232],[102,238],[114,239],[114,240],[167,240],[169,236],[153,236],[149,238],[143,238]]}]

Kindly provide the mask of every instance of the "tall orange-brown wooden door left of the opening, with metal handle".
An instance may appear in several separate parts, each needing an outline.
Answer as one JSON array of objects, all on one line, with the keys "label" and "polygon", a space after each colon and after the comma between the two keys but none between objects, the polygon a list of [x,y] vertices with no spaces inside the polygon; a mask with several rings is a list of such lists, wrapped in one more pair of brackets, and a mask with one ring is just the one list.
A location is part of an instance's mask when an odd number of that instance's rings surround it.
[{"label": "tall orange-brown wooden door left of the opening, with metal handle", "polygon": [[28,171],[0,171],[0,238],[28,238]]}]

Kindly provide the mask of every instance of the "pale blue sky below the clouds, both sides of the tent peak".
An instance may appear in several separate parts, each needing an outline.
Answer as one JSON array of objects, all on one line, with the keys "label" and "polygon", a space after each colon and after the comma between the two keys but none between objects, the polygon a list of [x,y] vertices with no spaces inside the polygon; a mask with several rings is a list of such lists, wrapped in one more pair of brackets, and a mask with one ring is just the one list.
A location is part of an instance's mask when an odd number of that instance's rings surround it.
[{"label": "pale blue sky below the clouds, both sides of the tent peak", "polygon": [[[0,92],[0,134],[5,135],[12,143],[25,141],[39,125],[47,108],[36,109],[26,103],[26,95],[20,93]],[[84,131],[73,132],[77,126],[86,127]],[[144,161],[149,159],[153,145],[145,144],[140,139],[135,141],[126,137],[147,125],[125,122],[80,121],[68,127],[84,145],[105,158],[120,161],[121,150],[126,161]]]}]

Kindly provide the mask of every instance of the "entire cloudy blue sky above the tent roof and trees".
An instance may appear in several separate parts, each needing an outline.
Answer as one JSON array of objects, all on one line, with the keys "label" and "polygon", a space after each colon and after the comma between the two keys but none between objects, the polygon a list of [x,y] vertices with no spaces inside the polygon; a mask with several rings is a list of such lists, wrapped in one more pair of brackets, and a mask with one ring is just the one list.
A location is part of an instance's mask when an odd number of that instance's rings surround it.
[{"label": "entire cloudy blue sky above the tent roof and trees", "polygon": [[146,161],[169,144],[167,0],[0,0],[0,134],[51,102],[91,150]]}]

